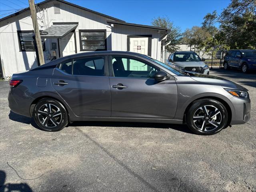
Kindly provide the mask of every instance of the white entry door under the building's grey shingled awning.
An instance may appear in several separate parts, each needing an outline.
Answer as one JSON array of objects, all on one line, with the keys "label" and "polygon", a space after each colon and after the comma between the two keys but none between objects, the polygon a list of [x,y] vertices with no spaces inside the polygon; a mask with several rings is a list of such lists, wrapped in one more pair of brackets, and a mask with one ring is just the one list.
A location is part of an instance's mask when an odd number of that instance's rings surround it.
[{"label": "white entry door under the building's grey shingled awning", "polygon": [[76,53],[74,32],[60,39],[60,54],[62,57]]}]

